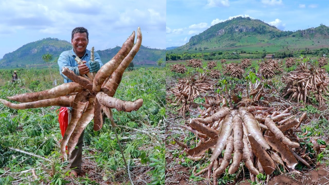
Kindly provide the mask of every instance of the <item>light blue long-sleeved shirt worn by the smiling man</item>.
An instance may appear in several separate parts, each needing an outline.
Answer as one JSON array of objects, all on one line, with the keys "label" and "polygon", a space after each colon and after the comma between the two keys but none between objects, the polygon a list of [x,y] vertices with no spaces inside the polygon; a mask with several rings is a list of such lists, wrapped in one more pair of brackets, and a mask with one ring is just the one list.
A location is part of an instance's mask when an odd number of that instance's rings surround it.
[{"label": "light blue long-sleeved shirt worn by the smiling man", "polygon": [[[76,56],[77,55],[75,54],[75,52],[73,51],[73,48],[72,48],[71,50],[63,51],[61,53],[60,57],[58,58],[57,63],[58,63],[58,66],[60,67],[60,74],[64,78],[64,83],[72,82],[72,80],[67,78],[67,76],[63,75],[63,73],[62,73],[63,67],[67,67],[68,69],[73,71],[76,75],[80,75],[80,72],[79,72],[79,69],[78,69],[79,65],[74,60]],[[101,58],[99,57],[99,55],[96,51],[94,52],[94,58],[95,58],[95,62],[99,63],[100,67],[103,66]],[[89,63],[88,63],[88,61],[90,60],[90,50],[86,49],[85,55],[80,59],[87,61],[86,66],[88,68],[90,68]]]}]

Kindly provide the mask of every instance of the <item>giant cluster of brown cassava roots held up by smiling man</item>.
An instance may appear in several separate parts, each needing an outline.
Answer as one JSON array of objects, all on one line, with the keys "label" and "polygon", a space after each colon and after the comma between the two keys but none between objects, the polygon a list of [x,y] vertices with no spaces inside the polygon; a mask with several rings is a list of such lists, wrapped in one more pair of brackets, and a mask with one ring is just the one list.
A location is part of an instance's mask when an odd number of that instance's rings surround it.
[{"label": "giant cluster of brown cassava roots held up by smiling man", "polygon": [[68,68],[63,68],[63,74],[73,82],[59,85],[50,90],[17,94],[7,97],[10,100],[21,102],[11,103],[0,99],[0,102],[13,109],[29,109],[48,106],[73,107],[71,121],[61,142],[61,153],[65,160],[67,155],[65,146],[68,145],[68,154],[71,155],[78,138],[89,122],[94,119],[94,130],[100,130],[103,124],[102,111],[111,119],[111,108],[118,111],[131,112],[138,110],[143,103],[142,99],[134,102],[114,98],[124,70],[133,60],[141,45],[142,35],[137,30],[137,41],[134,45],[135,31],[123,43],[119,52],[94,75],[93,81],[88,77],[77,76]]}]

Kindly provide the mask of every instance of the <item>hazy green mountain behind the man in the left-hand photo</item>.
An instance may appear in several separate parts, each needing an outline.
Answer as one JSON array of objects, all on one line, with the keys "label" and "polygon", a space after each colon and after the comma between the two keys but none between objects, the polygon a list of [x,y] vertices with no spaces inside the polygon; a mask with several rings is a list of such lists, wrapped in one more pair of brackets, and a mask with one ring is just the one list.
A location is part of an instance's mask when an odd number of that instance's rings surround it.
[{"label": "hazy green mountain behind the man in the left-hand photo", "polygon": [[[120,48],[121,47],[117,46],[112,49],[98,50],[97,53],[101,57],[103,63],[106,63],[119,51]],[[11,53],[5,54],[0,60],[0,67],[46,66],[45,62],[42,60],[43,54],[49,53],[53,55],[53,60],[55,61],[63,51],[70,49],[72,49],[70,42],[56,38],[46,38],[30,42]],[[140,46],[139,52],[136,54],[133,62],[134,65],[156,66],[156,61],[161,58],[165,59],[164,49],[151,49]]]}]

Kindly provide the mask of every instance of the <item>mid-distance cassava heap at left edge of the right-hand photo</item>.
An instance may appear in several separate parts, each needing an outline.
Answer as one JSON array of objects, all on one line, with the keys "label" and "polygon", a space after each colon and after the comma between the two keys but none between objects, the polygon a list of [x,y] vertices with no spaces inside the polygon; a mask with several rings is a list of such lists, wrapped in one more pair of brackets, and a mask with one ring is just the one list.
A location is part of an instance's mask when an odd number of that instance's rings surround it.
[{"label": "mid-distance cassava heap at left edge of the right-hand photo", "polygon": [[185,113],[189,111],[188,101],[193,102],[194,98],[200,96],[201,93],[207,93],[208,90],[213,90],[213,82],[207,76],[199,76],[198,79],[191,76],[190,78],[178,79],[176,87],[169,89],[176,98],[171,105],[183,104],[181,108],[176,111],[180,111],[180,114],[185,116]]}]

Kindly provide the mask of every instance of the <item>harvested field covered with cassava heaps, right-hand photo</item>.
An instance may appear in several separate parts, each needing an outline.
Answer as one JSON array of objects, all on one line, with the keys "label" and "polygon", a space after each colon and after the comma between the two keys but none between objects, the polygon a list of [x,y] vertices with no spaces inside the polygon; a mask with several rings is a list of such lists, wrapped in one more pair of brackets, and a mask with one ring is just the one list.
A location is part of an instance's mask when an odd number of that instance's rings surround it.
[{"label": "harvested field covered with cassava heaps, right-hand photo", "polygon": [[328,64],[273,61],[167,62],[165,184],[328,182]]}]

